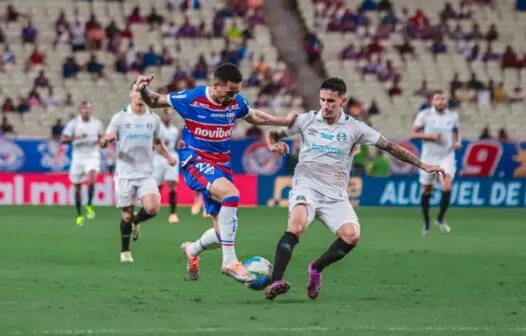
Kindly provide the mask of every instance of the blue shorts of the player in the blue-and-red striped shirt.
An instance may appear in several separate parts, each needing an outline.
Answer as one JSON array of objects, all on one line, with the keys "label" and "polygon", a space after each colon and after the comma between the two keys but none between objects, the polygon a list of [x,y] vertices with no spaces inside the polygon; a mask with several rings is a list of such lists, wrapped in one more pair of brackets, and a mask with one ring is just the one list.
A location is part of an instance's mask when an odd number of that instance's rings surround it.
[{"label": "blue shorts of the player in the blue-and-red striped shirt", "polygon": [[221,210],[221,203],[212,199],[210,186],[222,177],[234,183],[232,175],[218,166],[206,162],[189,162],[183,167],[186,185],[192,190],[203,194],[205,211],[209,215],[217,215]]}]

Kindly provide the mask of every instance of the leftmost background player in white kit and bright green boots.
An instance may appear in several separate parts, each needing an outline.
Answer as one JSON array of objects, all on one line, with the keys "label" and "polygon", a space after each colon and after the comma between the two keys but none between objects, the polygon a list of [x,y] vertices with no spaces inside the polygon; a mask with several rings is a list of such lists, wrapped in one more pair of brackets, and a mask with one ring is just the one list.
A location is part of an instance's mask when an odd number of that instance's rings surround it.
[{"label": "leftmost background player in white kit and bright green boots", "polygon": [[95,181],[100,172],[100,150],[97,146],[102,136],[102,122],[91,116],[91,104],[82,102],[79,106],[79,115],[68,122],[62,131],[62,143],[73,144],[73,154],[69,167],[69,179],[75,184],[75,206],[77,217],[75,222],[82,226],[85,217],[82,214],[81,187],[84,178],[88,182],[88,202],[84,207],[88,219],[95,218],[93,208],[93,195],[95,193]]}]

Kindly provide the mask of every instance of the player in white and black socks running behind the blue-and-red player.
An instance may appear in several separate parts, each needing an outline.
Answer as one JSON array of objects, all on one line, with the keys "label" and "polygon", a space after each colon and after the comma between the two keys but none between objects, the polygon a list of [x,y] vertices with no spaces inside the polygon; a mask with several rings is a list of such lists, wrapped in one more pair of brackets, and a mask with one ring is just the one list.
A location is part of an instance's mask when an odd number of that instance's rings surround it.
[{"label": "player in white and black socks running behind the blue-and-red player", "polygon": [[[101,147],[117,140],[115,193],[121,214],[121,262],[133,262],[130,238],[138,239],[139,223],[154,217],[161,206],[161,195],[153,177],[153,147],[174,166],[177,160],[167,151],[160,139],[161,120],[144,104],[137,86],[130,88],[131,104],[111,119]],[[135,196],[142,203],[137,215],[133,213]],[[133,228],[132,228],[133,225]]]}]

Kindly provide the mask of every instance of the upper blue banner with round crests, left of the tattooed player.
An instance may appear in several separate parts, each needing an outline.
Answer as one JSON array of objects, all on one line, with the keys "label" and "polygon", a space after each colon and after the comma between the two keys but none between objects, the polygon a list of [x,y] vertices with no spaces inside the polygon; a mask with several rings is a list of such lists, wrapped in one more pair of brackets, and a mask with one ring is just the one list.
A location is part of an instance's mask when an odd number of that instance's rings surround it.
[{"label": "upper blue banner with round crests, left of the tattooed player", "polygon": [[[292,146],[292,142],[288,142]],[[286,174],[285,157],[272,153],[264,141],[250,139],[231,142],[232,170],[235,174],[275,176]],[[103,166],[114,161],[115,147],[102,152]],[[6,139],[0,137],[0,172],[66,172],[71,148],[57,141]],[[104,171],[104,167],[103,167]]]}]

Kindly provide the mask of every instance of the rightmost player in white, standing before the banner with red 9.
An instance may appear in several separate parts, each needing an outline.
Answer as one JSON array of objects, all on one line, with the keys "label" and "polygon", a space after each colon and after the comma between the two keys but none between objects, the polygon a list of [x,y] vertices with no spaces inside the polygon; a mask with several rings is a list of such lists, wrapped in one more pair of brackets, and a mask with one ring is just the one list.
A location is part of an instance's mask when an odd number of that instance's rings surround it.
[{"label": "rightmost player in white, standing before the banner with red 9", "polygon": [[[448,98],[443,91],[431,94],[431,107],[418,113],[413,124],[413,139],[420,139],[422,143],[421,159],[443,167],[448,175],[455,176],[455,150],[462,147],[459,132],[458,113],[447,108]],[[421,207],[424,215],[424,229],[422,235],[429,234],[429,202],[433,188],[437,182],[436,176],[420,171],[422,184]],[[436,220],[443,233],[449,233],[451,228],[444,220],[451,199],[452,179],[440,181],[442,198],[440,211]]]}]

